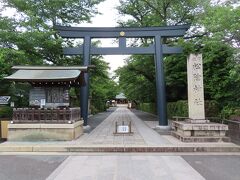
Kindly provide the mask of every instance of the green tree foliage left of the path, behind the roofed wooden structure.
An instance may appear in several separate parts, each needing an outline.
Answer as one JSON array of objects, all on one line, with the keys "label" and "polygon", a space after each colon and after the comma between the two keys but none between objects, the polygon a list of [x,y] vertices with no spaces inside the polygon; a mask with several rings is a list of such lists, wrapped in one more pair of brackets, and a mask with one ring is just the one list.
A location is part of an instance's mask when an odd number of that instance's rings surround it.
[{"label": "green tree foliage left of the path, behind the roofed wooden structure", "polygon": [[[13,65],[82,65],[82,56],[62,55],[63,46],[77,46],[81,41],[63,40],[54,26],[91,22],[91,18],[99,14],[97,5],[101,2],[103,0],[3,0],[0,9],[0,95],[18,97],[16,91],[24,91],[19,83],[3,80],[3,77],[12,73]],[[5,15],[4,12],[9,10],[14,12],[13,16]],[[93,103],[96,102],[93,105],[103,110],[105,101],[117,93],[113,89],[111,93],[109,86],[116,85],[109,78],[108,64],[101,56],[93,57],[92,64],[96,68],[91,72],[90,94],[95,100]],[[79,97],[78,90],[74,94]],[[24,97],[27,97],[27,93]],[[18,99],[22,99],[22,96]],[[20,102],[19,105],[26,103]]]}]

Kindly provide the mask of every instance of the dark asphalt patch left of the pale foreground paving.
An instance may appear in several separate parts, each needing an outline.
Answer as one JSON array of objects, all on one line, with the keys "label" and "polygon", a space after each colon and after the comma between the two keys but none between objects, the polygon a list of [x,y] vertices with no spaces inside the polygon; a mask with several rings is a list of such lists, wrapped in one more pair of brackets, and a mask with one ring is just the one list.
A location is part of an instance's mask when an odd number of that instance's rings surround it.
[{"label": "dark asphalt patch left of the pale foreground paving", "polygon": [[0,156],[0,180],[43,180],[67,156]]}]

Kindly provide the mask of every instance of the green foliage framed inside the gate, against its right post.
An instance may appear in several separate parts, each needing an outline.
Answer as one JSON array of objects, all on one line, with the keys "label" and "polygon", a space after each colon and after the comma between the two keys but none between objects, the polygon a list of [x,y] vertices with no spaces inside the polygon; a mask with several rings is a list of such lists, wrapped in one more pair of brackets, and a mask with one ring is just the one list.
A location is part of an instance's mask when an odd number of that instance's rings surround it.
[{"label": "green foliage framed inside the gate, against its right post", "polygon": [[152,56],[131,56],[127,65],[116,71],[125,95],[137,102],[155,101],[155,74]]}]

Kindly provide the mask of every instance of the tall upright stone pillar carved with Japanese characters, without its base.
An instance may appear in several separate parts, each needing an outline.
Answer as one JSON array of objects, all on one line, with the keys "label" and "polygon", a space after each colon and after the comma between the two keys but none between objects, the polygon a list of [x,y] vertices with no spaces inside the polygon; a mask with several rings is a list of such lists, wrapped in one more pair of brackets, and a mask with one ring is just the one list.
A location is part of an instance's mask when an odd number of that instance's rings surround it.
[{"label": "tall upright stone pillar carved with Japanese characters, without its base", "polygon": [[189,119],[205,120],[202,54],[190,54],[187,76]]}]

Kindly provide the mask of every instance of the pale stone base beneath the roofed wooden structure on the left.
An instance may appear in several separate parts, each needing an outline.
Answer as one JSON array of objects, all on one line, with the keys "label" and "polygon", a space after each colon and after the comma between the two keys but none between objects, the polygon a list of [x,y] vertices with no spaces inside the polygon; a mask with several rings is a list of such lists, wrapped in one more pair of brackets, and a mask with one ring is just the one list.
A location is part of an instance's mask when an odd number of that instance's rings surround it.
[{"label": "pale stone base beneath the roofed wooden structure on the left", "polygon": [[83,121],[73,124],[9,124],[8,141],[71,141],[83,134]]}]

